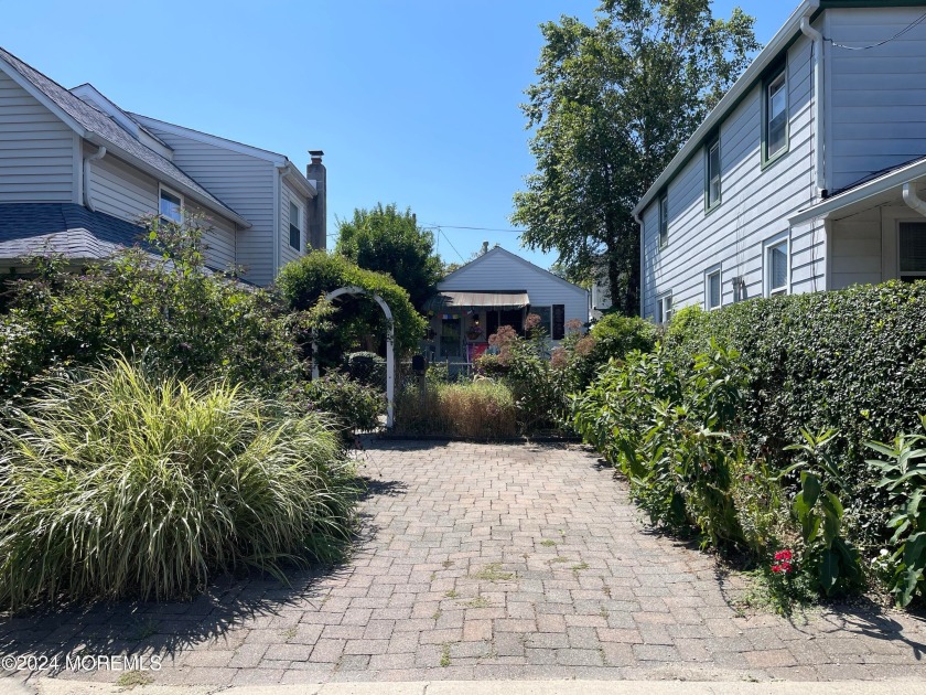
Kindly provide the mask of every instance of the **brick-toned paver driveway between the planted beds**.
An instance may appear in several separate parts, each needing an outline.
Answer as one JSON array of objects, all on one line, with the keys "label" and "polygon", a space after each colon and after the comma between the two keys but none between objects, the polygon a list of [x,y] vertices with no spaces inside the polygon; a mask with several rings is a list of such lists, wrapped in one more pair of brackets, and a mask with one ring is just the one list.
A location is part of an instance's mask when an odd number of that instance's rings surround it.
[{"label": "brick-toned paver driveway between the planted beds", "polygon": [[[697,550],[648,533],[577,448],[373,442],[364,537],[294,586],[8,620],[6,654],[168,654],[155,683],[924,678],[924,622],[875,608],[744,617]],[[107,671],[58,677],[112,681]]]}]

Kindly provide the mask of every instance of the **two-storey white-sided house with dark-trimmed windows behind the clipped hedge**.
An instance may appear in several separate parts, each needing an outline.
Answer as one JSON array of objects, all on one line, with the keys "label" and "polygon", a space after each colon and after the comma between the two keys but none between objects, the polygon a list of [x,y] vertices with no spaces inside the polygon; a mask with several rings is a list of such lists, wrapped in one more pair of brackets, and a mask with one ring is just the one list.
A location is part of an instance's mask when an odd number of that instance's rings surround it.
[{"label": "two-storey white-sided house with dark-trimmed windows behind the clipped hedge", "polygon": [[926,3],[805,0],[657,178],[640,313],[926,277]]}]

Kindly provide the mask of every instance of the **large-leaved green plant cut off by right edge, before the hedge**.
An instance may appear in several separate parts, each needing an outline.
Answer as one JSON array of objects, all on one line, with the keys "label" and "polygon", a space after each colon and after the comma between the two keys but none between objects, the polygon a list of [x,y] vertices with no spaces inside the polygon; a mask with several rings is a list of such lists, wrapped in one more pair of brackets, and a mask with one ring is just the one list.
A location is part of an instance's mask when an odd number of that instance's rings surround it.
[{"label": "large-leaved green plant cut off by right edge, before the hedge", "polygon": [[[919,416],[926,432],[926,416]],[[869,459],[880,471],[877,487],[887,491],[893,516],[887,523],[894,530],[890,545],[894,553],[883,552],[887,565],[885,579],[900,606],[908,606],[917,592],[926,596],[926,435],[897,435],[892,443],[866,442],[884,459]]]}]

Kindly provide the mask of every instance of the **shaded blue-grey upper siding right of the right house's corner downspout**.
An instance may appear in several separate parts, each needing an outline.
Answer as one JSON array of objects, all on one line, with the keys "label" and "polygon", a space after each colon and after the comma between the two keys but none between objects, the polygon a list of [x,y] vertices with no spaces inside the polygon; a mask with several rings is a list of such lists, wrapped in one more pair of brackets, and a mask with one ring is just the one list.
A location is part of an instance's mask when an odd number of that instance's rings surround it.
[{"label": "shaded blue-grey upper siding right of the right house's corner downspout", "polygon": [[[826,12],[833,43],[864,46],[891,39],[926,8]],[[827,43],[828,188],[926,154],[926,23],[884,45],[850,51]]]}]

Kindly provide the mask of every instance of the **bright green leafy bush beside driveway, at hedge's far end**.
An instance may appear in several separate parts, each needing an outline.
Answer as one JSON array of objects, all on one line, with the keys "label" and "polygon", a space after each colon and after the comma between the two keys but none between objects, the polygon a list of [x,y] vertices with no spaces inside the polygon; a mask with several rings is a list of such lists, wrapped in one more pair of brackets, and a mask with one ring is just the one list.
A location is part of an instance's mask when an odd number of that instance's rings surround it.
[{"label": "bright green leafy bush beside driveway, at hedge's far end", "polygon": [[683,375],[657,352],[612,361],[573,399],[573,423],[627,477],[653,523],[701,532],[704,545],[743,545],[733,471],[745,374],[737,354],[712,344]]}]

